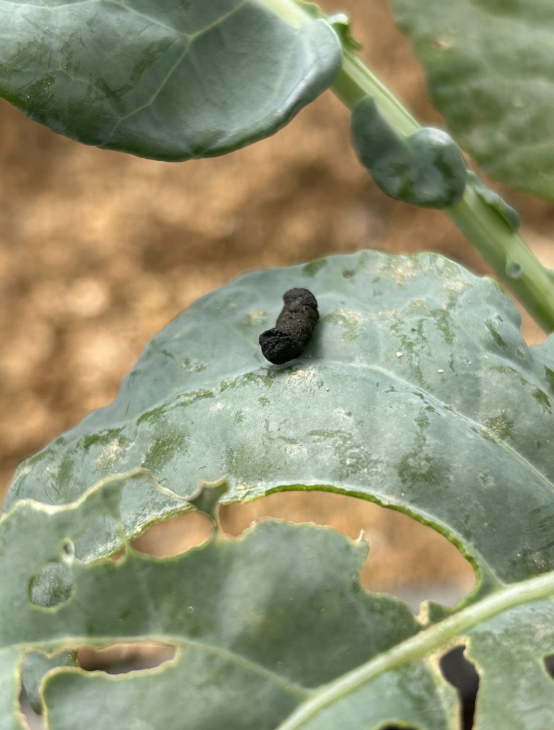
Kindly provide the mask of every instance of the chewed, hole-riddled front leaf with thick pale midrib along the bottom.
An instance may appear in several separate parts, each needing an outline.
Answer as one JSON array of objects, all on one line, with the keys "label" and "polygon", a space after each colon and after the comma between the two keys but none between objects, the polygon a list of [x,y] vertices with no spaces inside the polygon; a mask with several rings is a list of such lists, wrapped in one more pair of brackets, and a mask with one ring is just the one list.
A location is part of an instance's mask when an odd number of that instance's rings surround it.
[{"label": "chewed, hole-riddled front leaf with thick pale midrib along the bottom", "polygon": [[[38,653],[144,640],[173,645],[175,658],[118,677],[43,664],[36,697],[47,729],[178,730],[186,718],[188,730],[456,730],[458,698],[438,659],[461,641],[481,672],[478,727],[550,726],[554,572],[419,623],[397,599],[363,591],[365,543],[263,520],[177,558],[127,544],[118,563],[72,559],[72,599],[33,604],[32,576],[66,560],[64,545],[99,517],[122,514],[124,492],[112,481],[75,504],[21,501],[1,518],[0,730],[24,727],[21,666]],[[39,676],[35,665],[35,684]]]}]

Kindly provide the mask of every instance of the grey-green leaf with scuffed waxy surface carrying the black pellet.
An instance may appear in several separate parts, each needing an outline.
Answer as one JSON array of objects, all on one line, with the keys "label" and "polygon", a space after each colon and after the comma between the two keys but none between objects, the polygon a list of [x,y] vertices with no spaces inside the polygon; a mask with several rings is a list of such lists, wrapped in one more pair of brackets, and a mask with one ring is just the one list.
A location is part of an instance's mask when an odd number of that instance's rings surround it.
[{"label": "grey-green leaf with scuffed waxy surface carrying the black pellet", "polygon": [[[258,336],[294,287],[315,294],[320,320],[301,358],[273,366]],[[119,472],[112,513],[132,537],[224,477],[226,502],[325,489],[407,512],[470,556],[482,591],[548,572],[554,361],[519,326],[498,285],[434,254],[247,274],[158,334],[113,404],[24,462],[4,509],[69,503]],[[131,466],[155,483],[129,482]],[[118,535],[99,518],[77,553],[112,552]]]}]

